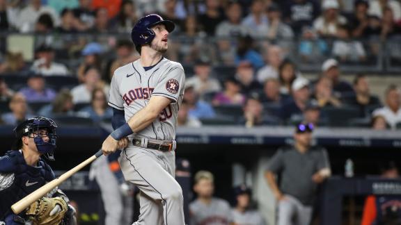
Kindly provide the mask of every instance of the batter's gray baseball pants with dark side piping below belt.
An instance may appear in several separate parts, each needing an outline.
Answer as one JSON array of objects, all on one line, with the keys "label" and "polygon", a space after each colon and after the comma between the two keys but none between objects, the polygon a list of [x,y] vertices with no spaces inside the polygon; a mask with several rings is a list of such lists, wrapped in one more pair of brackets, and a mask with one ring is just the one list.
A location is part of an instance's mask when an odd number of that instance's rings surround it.
[{"label": "batter's gray baseball pants with dark side piping below belt", "polygon": [[134,225],[184,225],[182,189],[175,181],[175,151],[134,147],[120,158],[126,181],[141,190],[140,215]]}]

